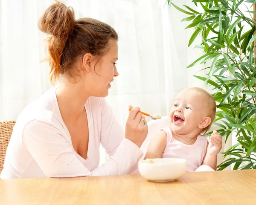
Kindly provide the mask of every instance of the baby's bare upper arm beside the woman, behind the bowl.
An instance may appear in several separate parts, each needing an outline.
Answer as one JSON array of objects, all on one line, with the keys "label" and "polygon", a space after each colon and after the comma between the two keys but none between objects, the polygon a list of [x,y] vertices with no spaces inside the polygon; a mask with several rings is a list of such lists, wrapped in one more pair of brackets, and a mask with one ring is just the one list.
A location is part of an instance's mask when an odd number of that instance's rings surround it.
[{"label": "baby's bare upper arm beside the woman, behind the bowl", "polygon": [[150,141],[145,159],[161,158],[166,147],[167,134],[165,131],[157,133]]}]

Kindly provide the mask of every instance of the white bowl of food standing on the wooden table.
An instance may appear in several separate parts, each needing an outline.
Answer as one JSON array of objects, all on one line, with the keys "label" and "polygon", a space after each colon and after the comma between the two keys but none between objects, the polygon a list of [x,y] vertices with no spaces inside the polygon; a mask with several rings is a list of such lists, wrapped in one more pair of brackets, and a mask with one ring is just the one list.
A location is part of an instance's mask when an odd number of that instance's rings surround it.
[{"label": "white bowl of food standing on the wooden table", "polygon": [[186,173],[186,159],[145,159],[139,162],[140,175],[153,182],[170,182]]}]

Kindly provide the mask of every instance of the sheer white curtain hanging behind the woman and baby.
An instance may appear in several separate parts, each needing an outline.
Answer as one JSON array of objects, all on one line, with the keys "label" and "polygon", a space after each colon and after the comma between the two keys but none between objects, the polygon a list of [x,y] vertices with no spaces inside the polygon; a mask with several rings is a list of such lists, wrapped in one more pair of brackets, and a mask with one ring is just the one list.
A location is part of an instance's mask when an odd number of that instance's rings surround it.
[{"label": "sheer white curtain hanging behind the woman and baby", "polygon": [[[92,17],[113,26],[119,34],[119,77],[107,97],[125,125],[128,105],[151,115],[167,115],[176,93],[189,86],[204,87],[193,75],[205,75],[204,65],[186,66],[202,55],[187,48],[192,29],[184,30],[187,17],[166,0],[61,0],[73,6],[76,18]],[[177,6],[193,5],[176,0]],[[23,108],[46,92],[49,65],[46,37],[38,19],[53,0],[0,0],[0,121],[13,120]],[[208,89],[209,90],[209,89]],[[103,153],[103,152],[102,152]],[[102,155],[103,162],[105,155]]]}]

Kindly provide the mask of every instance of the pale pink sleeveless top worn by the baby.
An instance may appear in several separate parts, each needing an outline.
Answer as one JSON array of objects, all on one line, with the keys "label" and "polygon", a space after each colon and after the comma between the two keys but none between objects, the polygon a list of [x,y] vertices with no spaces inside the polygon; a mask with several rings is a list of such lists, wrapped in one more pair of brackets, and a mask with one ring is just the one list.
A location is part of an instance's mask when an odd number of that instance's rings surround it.
[{"label": "pale pink sleeveless top worn by the baby", "polygon": [[163,128],[163,131],[166,132],[167,139],[162,158],[186,159],[188,172],[193,172],[202,165],[207,148],[205,136],[198,135],[194,144],[187,145],[174,139],[169,127]]}]

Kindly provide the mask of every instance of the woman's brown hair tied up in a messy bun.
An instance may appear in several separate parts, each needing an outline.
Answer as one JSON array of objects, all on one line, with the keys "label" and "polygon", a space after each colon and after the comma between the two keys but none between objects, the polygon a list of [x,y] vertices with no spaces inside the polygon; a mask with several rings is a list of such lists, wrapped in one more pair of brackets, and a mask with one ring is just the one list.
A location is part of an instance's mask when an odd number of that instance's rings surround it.
[{"label": "woman's brown hair tied up in a messy bun", "polygon": [[63,3],[49,6],[39,20],[39,29],[50,35],[47,49],[51,70],[50,81],[55,84],[60,74],[74,77],[78,69],[74,68],[77,60],[84,54],[102,56],[108,52],[108,41],[118,40],[116,31],[106,23],[92,18],[75,20],[72,7]]}]

